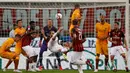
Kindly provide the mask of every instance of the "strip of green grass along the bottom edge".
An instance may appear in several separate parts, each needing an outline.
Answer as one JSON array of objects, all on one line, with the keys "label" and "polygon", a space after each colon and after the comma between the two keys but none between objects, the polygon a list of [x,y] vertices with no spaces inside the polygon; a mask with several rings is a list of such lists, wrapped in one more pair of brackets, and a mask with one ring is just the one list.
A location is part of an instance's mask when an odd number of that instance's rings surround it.
[{"label": "strip of green grass along the bottom edge", "polygon": [[[13,70],[7,70],[6,72],[3,72],[2,70],[0,70],[0,73],[14,73]],[[27,72],[25,70],[22,70],[22,73],[34,73],[34,72]],[[36,73],[78,73],[78,70],[43,70],[42,72],[36,72]],[[91,70],[84,70],[84,73],[94,73]],[[117,71],[117,72],[113,72],[113,71],[98,71],[97,73],[127,73],[124,70],[122,71]]]}]

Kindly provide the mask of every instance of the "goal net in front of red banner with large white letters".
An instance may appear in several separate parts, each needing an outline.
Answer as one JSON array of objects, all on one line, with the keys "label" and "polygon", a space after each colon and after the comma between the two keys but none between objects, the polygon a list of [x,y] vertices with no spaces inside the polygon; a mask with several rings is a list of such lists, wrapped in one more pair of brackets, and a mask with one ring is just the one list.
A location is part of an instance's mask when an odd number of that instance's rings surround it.
[{"label": "goal net in front of red banner with large white letters", "polygon": [[125,2],[1,2],[0,37],[8,37],[18,19],[22,19],[24,27],[27,27],[30,21],[35,21],[37,26],[45,26],[47,19],[52,19],[53,25],[58,27],[58,21],[55,18],[58,11],[63,17],[61,20],[64,27],[62,35],[66,36],[75,4],[80,5],[82,15],[80,28],[86,37],[95,37],[95,24],[100,21],[100,15],[105,16],[106,22],[110,23],[112,28],[114,22],[119,22],[120,29],[125,32]]}]

